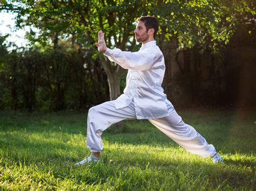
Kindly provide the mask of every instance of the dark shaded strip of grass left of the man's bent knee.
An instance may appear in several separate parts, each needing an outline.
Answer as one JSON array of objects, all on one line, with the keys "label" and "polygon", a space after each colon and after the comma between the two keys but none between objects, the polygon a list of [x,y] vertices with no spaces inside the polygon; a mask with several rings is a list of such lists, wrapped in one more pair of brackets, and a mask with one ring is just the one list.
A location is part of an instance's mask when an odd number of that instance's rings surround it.
[{"label": "dark shaded strip of grass left of the man's bent knee", "polygon": [[86,112],[0,112],[0,131],[51,131],[86,135],[86,120]]}]

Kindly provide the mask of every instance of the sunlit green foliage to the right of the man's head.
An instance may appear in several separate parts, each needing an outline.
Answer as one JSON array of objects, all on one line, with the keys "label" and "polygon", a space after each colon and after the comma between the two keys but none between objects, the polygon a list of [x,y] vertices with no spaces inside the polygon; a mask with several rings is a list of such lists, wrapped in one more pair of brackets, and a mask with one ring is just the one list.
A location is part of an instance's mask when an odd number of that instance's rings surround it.
[{"label": "sunlit green foliage to the right of the man's head", "polygon": [[218,52],[237,25],[255,15],[255,2],[246,1],[165,1],[157,9],[152,7],[167,39],[175,36],[179,49],[196,47],[199,51]]}]

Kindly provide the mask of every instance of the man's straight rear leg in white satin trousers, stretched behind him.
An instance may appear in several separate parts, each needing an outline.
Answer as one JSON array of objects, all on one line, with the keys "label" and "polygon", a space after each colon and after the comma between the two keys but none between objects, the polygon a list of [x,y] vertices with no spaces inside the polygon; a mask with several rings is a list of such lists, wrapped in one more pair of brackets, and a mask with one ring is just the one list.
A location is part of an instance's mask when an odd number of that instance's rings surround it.
[{"label": "man's straight rear leg in white satin trousers, stretched behind him", "polygon": [[214,146],[209,145],[192,126],[185,124],[175,110],[170,116],[149,121],[188,152],[201,157],[212,157],[216,153]]}]

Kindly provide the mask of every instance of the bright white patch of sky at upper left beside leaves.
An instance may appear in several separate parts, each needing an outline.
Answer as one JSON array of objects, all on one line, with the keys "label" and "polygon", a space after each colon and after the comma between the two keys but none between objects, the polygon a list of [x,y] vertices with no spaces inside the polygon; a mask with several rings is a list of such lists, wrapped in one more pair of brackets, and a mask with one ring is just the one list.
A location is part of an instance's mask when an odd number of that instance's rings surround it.
[{"label": "bright white patch of sky at upper left beside leaves", "polygon": [[6,40],[8,42],[15,43],[18,47],[26,46],[28,40],[25,39],[25,33],[29,30],[29,27],[25,29],[15,30],[15,14],[0,12],[0,33],[2,36],[10,34]]}]

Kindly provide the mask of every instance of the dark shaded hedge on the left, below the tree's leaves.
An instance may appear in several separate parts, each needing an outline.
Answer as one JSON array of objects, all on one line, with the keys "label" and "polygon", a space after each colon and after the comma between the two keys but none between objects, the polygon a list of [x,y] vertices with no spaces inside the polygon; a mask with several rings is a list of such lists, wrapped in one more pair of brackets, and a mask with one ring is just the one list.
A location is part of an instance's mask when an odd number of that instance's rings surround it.
[{"label": "dark shaded hedge on the left, below the tree's leaves", "polygon": [[98,60],[70,40],[59,44],[58,49],[14,49],[1,57],[1,109],[87,108],[106,100],[106,77]]}]

